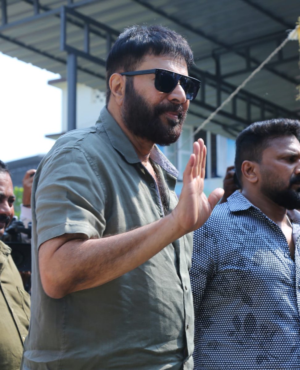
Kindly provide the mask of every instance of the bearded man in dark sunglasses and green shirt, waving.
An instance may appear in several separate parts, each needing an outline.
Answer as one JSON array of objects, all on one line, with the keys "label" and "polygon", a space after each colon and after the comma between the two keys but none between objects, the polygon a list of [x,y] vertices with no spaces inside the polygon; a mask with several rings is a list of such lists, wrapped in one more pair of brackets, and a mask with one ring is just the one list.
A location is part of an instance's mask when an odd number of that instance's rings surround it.
[{"label": "bearded man in dark sunglasses and green shirt, waving", "polygon": [[223,191],[203,194],[199,140],[178,202],[177,170],[155,145],[179,138],[200,87],[192,63],[167,28],[125,30],[96,126],[58,139],[37,169],[22,369],[193,369],[190,232]]}]

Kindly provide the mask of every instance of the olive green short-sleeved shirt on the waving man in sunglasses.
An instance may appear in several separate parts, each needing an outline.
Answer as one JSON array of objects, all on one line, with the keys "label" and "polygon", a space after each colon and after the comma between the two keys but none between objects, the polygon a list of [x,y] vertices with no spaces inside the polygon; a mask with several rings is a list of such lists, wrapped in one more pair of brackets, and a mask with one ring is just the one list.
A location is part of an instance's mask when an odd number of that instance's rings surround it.
[{"label": "olive green short-sleeved shirt on the waving man in sunglasses", "polygon": [[[177,170],[151,160],[171,211]],[[31,323],[23,369],[193,369],[191,235],[104,285],[61,299],[41,287],[37,251],[64,233],[102,238],[164,217],[156,182],[106,108],[59,138],[33,184]],[[113,269],[113,264],[111,266]]]}]

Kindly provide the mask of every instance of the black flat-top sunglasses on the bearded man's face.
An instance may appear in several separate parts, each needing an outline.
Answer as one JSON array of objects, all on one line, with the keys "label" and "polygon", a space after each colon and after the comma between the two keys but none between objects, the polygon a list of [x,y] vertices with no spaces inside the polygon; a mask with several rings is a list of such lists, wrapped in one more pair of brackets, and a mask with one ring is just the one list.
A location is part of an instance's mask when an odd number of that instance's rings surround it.
[{"label": "black flat-top sunglasses on the bearded man's face", "polygon": [[132,71],[120,73],[122,76],[135,76],[139,74],[155,73],[154,86],[161,92],[171,92],[180,83],[187,100],[196,98],[201,82],[197,78],[185,76],[183,74],[164,70],[161,68],[154,68],[152,70]]}]

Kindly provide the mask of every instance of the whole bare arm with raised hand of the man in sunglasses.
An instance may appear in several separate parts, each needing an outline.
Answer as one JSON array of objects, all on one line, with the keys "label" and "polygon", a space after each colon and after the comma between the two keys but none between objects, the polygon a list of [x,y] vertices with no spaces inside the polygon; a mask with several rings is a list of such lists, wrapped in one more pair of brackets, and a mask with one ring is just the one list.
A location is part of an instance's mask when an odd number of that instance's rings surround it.
[{"label": "whole bare arm with raised hand of the man in sunglasses", "polygon": [[41,244],[40,276],[47,295],[61,298],[116,279],[203,225],[223,195],[223,189],[214,190],[206,198],[203,193],[206,147],[199,139],[193,148],[194,153],[183,173],[179,202],[169,215],[106,238],[74,240],[76,235],[65,234]]}]

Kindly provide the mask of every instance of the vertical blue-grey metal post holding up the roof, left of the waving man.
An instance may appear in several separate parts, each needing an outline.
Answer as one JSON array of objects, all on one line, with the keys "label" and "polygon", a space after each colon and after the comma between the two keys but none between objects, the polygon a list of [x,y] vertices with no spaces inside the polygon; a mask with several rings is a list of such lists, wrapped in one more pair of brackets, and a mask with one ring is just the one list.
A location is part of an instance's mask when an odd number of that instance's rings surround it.
[{"label": "vertical blue-grey metal post holding up the roof, left of the waving man", "polygon": [[68,54],[67,57],[68,131],[76,129],[76,85],[77,85],[77,58],[75,54]]}]

